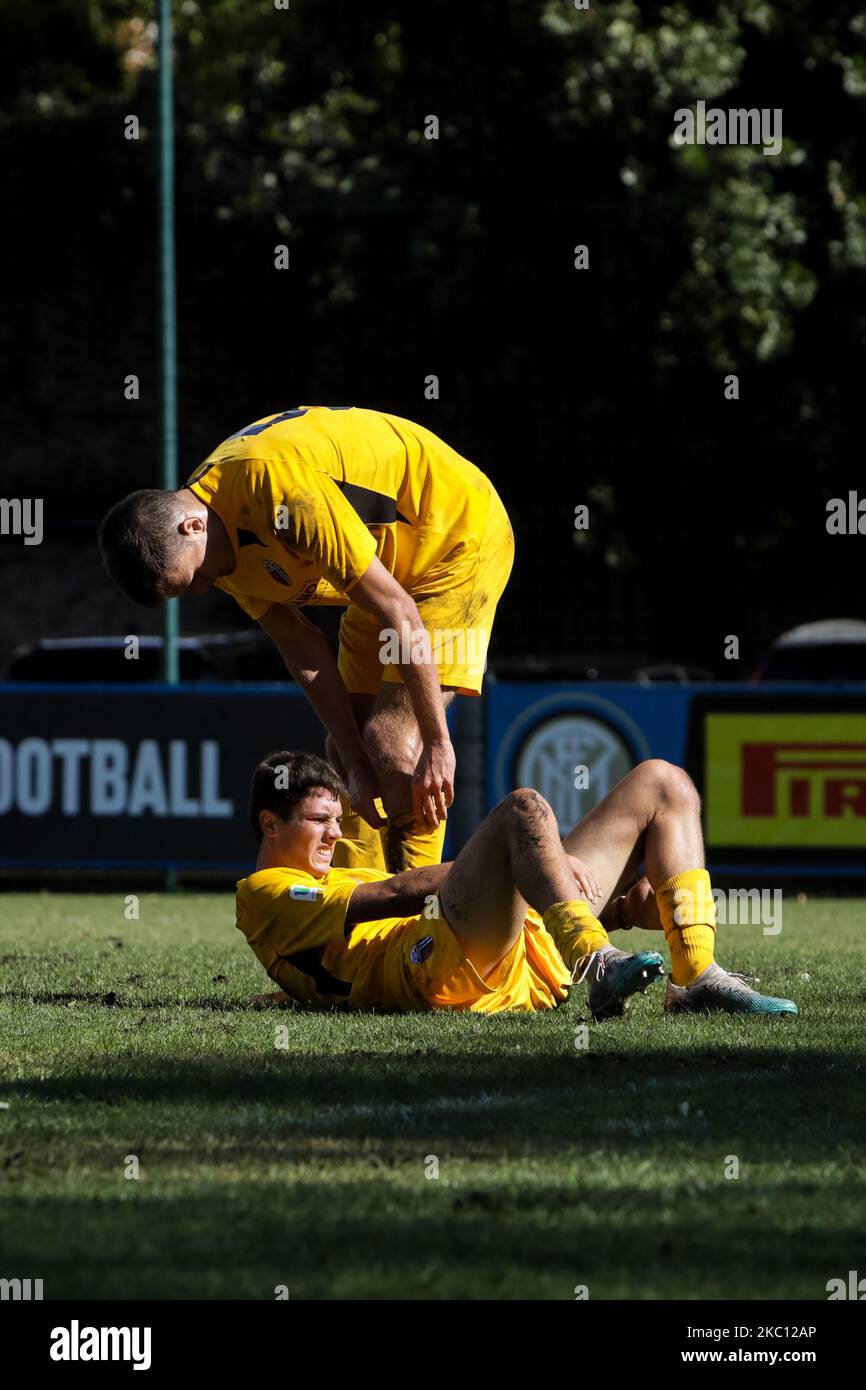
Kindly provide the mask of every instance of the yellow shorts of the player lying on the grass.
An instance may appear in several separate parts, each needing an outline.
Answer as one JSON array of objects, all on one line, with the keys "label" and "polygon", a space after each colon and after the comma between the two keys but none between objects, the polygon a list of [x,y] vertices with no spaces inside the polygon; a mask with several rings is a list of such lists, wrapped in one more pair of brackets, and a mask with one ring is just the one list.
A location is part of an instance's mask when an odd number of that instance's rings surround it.
[{"label": "yellow shorts of the player lying on the grass", "polygon": [[531,912],[509,954],[482,980],[439,913],[418,917],[388,940],[377,983],[384,1009],[534,1013],[567,998],[571,974],[553,937]]}]

